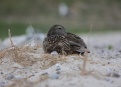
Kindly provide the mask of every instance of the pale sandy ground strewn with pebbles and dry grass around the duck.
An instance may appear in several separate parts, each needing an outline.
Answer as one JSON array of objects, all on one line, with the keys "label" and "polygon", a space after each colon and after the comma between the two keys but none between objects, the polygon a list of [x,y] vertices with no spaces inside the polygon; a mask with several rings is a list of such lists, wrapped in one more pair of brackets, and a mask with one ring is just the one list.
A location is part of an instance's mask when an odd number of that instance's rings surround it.
[{"label": "pale sandy ground strewn with pebbles and dry grass around the duck", "polygon": [[25,36],[15,37],[24,44],[1,42],[0,87],[121,87],[121,32],[81,37],[89,55],[44,54],[41,41]]}]

